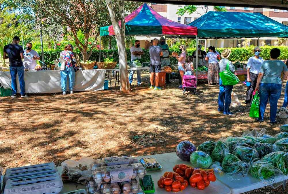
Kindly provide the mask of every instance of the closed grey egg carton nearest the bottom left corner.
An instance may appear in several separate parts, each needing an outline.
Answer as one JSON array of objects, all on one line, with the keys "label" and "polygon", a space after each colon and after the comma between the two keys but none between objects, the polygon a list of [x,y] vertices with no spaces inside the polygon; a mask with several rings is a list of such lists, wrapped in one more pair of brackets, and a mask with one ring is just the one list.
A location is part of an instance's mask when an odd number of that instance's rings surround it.
[{"label": "closed grey egg carton nearest the bottom left corner", "polygon": [[3,194],[60,193],[63,187],[58,172],[32,175],[7,180]]}]

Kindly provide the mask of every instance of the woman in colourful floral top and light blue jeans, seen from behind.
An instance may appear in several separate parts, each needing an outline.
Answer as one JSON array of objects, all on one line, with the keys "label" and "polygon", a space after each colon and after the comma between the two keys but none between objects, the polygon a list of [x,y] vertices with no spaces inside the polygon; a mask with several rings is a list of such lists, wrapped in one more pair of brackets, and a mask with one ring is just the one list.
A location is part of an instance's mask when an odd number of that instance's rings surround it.
[{"label": "woman in colourful floral top and light blue jeans, seen from behind", "polygon": [[60,53],[60,59],[66,60],[66,67],[63,71],[60,71],[60,76],[63,95],[66,95],[67,77],[69,77],[70,94],[73,94],[75,84],[75,71],[71,60],[73,60],[74,62],[76,62],[76,60],[72,53],[72,48],[70,47],[70,45],[66,45],[64,49],[65,50]]}]

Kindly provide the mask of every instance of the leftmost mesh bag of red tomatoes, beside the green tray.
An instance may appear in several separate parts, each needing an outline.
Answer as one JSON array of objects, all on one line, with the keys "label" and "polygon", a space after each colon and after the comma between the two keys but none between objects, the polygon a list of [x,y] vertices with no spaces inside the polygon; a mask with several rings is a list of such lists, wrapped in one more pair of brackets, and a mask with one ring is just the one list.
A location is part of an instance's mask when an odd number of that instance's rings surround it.
[{"label": "leftmost mesh bag of red tomatoes, beside the green tray", "polygon": [[166,191],[183,191],[189,185],[188,181],[176,172],[165,172],[158,180],[158,187]]}]

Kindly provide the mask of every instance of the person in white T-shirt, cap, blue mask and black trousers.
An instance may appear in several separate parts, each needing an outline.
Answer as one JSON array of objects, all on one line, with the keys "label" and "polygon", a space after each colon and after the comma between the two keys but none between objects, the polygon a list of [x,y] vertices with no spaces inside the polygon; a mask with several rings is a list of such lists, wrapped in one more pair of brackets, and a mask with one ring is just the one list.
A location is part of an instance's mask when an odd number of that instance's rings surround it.
[{"label": "person in white T-shirt, cap, blue mask and black trousers", "polygon": [[259,47],[254,48],[254,56],[250,57],[247,64],[247,82],[251,82],[247,88],[245,104],[252,103],[253,91],[255,90],[258,74],[264,59],[260,55],[261,49]]}]

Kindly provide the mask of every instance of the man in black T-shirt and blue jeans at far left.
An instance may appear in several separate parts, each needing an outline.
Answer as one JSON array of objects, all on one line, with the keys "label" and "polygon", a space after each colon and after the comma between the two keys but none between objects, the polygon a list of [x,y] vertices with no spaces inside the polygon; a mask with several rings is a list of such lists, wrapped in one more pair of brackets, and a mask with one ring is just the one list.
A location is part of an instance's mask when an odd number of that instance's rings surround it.
[{"label": "man in black T-shirt and blue jeans at far left", "polygon": [[[11,75],[11,87],[12,87],[12,98],[16,98],[17,93],[17,82],[16,77],[18,73],[20,83],[20,94],[21,98],[28,97],[25,94],[25,82],[24,82],[24,67],[22,59],[24,59],[24,51],[21,45],[19,45],[20,38],[14,37],[13,42],[9,45],[4,46],[3,59],[9,59],[10,64],[10,75]],[[7,56],[8,55],[8,56]]]}]

